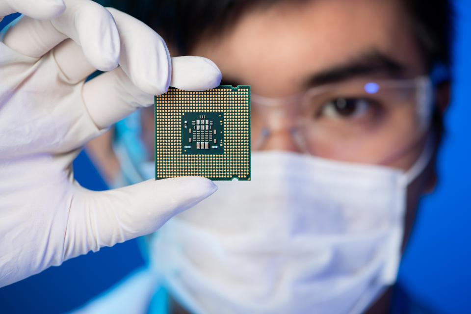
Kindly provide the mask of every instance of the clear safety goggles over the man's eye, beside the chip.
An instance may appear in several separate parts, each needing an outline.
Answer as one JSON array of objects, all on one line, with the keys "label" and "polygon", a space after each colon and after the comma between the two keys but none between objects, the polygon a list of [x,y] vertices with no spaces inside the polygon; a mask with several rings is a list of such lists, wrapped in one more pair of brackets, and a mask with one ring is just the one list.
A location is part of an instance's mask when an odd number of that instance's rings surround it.
[{"label": "clear safety goggles over the man's eye, beside the chip", "polygon": [[298,151],[319,157],[387,163],[429,129],[434,84],[413,79],[357,78],[288,98],[252,94],[252,149],[289,134]]}]

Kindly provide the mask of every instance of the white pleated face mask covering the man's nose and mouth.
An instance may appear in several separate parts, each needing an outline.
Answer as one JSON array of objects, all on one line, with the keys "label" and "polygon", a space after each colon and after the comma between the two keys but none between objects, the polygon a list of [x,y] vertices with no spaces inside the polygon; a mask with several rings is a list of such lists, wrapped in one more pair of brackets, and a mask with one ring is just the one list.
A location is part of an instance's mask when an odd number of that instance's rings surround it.
[{"label": "white pleated face mask covering the man's nose and mouth", "polygon": [[151,262],[192,313],[361,313],[396,279],[407,173],[288,152],[252,154],[251,182],[169,220]]}]

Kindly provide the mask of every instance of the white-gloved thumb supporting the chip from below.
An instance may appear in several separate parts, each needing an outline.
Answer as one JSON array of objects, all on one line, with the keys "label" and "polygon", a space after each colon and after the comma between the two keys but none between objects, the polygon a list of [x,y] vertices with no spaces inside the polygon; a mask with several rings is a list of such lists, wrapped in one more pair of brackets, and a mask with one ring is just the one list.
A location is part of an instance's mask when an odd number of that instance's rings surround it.
[{"label": "white-gloved thumb supporting the chip from below", "polygon": [[203,177],[148,180],[101,192],[79,187],[70,208],[63,261],[153,233],[216,189]]}]

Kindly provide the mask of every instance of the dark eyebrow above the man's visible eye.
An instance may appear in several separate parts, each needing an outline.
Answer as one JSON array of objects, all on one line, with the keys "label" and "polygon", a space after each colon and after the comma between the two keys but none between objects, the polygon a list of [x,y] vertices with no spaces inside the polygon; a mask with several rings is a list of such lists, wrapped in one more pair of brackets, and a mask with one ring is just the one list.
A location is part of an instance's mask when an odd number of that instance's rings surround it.
[{"label": "dark eyebrow above the man's visible eye", "polygon": [[381,52],[370,50],[343,65],[314,74],[306,80],[305,85],[306,87],[314,87],[371,74],[401,77],[404,72],[405,66],[403,64]]}]

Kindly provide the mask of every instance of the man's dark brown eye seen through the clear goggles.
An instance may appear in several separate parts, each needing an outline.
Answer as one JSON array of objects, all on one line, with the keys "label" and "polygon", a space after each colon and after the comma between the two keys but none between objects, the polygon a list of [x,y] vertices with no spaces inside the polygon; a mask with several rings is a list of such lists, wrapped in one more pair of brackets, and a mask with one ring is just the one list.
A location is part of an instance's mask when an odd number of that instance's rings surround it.
[{"label": "man's dark brown eye seen through the clear goggles", "polygon": [[367,98],[334,98],[320,106],[316,118],[363,119],[381,113],[381,105]]}]

